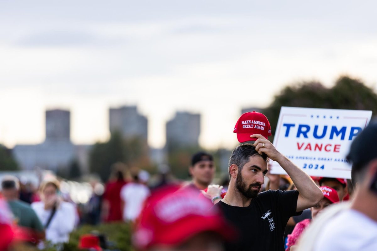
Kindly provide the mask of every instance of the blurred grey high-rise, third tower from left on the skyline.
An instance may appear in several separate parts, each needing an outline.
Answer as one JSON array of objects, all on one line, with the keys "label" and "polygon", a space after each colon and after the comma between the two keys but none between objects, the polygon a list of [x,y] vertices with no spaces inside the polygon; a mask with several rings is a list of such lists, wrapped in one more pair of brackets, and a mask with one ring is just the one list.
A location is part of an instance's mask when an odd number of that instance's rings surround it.
[{"label": "blurred grey high-rise, third tower from left on the skyline", "polygon": [[176,112],[175,117],[166,123],[166,146],[199,146],[200,114]]}]

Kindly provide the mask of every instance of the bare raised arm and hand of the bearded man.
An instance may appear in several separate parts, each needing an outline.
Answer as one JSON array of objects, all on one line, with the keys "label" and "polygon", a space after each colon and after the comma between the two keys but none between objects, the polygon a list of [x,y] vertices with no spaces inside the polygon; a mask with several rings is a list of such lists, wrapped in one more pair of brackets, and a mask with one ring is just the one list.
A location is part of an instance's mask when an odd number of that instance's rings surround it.
[{"label": "bare raised arm and hand of the bearded man", "polygon": [[260,134],[253,134],[251,138],[258,138],[255,143],[255,149],[259,154],[265,153],[267,156],[279,163],[279,165],[291,177],[294,185],[299,191],[299,198],[297,199],[296,211],[302,211],[306,208],[317,205],[323,199],[323,193],[314,183],[314,181],[293,164],[288,158],[282,155],[265,137]]}]

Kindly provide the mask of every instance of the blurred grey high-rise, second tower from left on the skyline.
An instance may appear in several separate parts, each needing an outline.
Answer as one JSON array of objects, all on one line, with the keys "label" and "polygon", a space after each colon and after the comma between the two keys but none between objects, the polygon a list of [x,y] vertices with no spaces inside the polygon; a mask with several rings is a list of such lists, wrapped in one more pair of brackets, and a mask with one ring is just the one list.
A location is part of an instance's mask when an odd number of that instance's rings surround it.
[{"label": "blurred grey high-rise, second tower from left on the skyline", "polygon": [[148,119],[139,114],[136,106],[121,106],[109,109],[110,133],[118,131],[124,139],[148,139]]}]

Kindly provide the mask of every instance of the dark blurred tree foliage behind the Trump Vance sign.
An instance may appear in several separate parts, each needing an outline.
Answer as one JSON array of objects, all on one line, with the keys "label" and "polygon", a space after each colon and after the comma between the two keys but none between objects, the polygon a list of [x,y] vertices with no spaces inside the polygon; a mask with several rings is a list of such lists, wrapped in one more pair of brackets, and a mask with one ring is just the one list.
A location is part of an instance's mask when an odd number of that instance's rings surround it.
[{"label": "dark blurred tree foliage behind the Trump Vance sign", "polygon": [[320,82],[302,82],[287,86],[264,110],[274,134],[282,106],[371,110],[377,114],[377,94],[359,79],[341,76],[331,88]]}]

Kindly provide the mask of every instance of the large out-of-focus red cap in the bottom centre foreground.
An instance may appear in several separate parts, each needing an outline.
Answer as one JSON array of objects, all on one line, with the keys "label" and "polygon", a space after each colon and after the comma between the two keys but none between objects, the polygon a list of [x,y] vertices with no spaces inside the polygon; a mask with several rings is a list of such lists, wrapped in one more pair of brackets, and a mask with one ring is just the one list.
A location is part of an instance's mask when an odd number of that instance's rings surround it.
[{"label": "large out-of-focus red cap in the bottom centre foreground", "polygon": [[235,237],[210,200],[199,197],[193,189],[177,189],[166,189],[148,199],[133,234],[136,248],[174,246],[204,231],[216,232],[224,239]]}]

